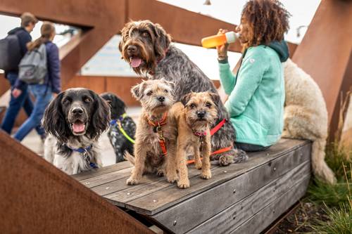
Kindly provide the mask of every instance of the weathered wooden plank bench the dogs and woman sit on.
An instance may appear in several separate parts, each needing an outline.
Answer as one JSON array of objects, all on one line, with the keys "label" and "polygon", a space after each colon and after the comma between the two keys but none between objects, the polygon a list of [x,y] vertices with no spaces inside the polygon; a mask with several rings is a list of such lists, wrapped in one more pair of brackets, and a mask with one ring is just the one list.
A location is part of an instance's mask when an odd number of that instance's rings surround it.
[{"label": "weathered wooden plank bench the dogs and woman sit on", "polygon": [[191,188],[165,177],[144,176],[127,186],[132,165],[122,162],[74,177],[108,201],[132,210],[170,233],[260,233],[306,193],[310,179],[308,141],[282,139],[249,160],[212,167],[210,180],[189,167]]}]

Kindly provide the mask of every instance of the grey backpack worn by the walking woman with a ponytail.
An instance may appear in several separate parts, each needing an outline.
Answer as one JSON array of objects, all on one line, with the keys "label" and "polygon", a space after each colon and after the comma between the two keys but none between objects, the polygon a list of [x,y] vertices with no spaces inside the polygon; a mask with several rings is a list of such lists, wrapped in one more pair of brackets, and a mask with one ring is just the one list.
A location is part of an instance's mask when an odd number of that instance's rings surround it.
[{"label": "grey backpack worn by the walking woman with a ponytail", "polygon": [[18,79],[27,84],[44,84],[47,72],[45,44],[27,51],[18,65]]}]

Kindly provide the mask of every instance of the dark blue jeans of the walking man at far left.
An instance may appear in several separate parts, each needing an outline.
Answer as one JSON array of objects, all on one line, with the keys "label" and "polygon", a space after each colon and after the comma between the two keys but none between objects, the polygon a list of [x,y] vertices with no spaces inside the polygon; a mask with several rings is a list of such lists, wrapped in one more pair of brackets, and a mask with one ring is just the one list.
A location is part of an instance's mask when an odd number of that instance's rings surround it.
[{"label": "dark blue jeans of the walking man at far left", "polygon": [[[18,77],[18,74],[15,72],[8,72],[8,74],[6,74],[6,78],[8,79],[8,82],[10,82],[11,84],[11,90],[15,85],[17,77]],[[11,134],[13,125],[15,124],[15,119],[18,115],[18,112],[20,112],[20,108],[22,107],[25,109],[25,112],[29,117],[33,110],[33,103],[32,103],[32,100],[30,100],[30,96],[28,95],[27,87],[23,89],[21,95],[18,96],[18,98],[13,97],[11,93],[10,103],[8,105],[8,109],[6,110],[4,119],[1,123],[1,129],[6,131],[8,134]],[[40,136],[44,135],[45,132],[42,126],[38,125],[35,127],[35,129],[37,130],[37,133]]]}]

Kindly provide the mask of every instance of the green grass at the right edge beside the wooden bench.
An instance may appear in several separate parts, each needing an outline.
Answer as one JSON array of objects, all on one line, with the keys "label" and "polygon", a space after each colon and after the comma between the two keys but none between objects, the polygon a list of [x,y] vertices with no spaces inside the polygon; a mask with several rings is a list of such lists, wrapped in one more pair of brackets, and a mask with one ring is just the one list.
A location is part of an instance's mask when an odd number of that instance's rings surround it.
[{"label": "green grass at the right edge beside the wooden bench", "polygon": [[352,154],[337,144],[327,148],[326,161],[337,176],[330,185],[314,179],[308,188],[307,199],[324,210],[327,221],[315,219],[308,226],[313,233],[352,233]]}]

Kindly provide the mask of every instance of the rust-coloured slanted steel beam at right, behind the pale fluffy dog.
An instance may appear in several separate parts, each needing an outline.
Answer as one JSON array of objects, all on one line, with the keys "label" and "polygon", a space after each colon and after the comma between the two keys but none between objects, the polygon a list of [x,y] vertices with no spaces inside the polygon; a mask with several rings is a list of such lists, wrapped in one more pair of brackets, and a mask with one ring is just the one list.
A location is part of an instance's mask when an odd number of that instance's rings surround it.
[{"label": "rust-coloured slanted steel beam at right, behind the pale fluffy dog", "polygon": [[340,93],[352,86],[351,49],[352,1],[322,0],[293,60],[322,90],[331,137],[337,129]]}]

